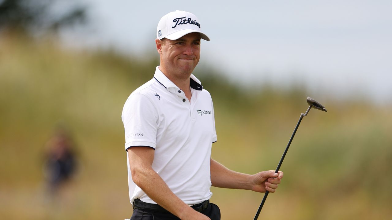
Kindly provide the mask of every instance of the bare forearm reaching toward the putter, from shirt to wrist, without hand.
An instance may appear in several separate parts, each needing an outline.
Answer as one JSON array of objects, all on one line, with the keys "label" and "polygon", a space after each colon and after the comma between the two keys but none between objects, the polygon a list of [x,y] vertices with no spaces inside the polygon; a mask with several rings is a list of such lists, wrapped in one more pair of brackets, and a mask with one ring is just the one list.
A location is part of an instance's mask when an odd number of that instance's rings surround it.
[{"label": "bare forearm reaching toward the putter, from shirt to wrist, without hand", "polygon": [[215,187],[252,190],[251,175],[227,169],[211,159],[211,184]]}]

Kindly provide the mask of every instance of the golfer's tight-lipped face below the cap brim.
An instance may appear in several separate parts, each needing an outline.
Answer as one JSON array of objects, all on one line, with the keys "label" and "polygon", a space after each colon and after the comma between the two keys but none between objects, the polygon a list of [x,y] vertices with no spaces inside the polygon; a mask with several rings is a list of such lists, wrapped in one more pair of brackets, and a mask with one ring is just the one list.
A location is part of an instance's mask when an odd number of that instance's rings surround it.
[{"label": "golfer's tight-lipped face below the cap brim", "polygon": [[200,59],[200,35],[189,33],[177,40],[156,40],[160,69],[176,78],[189,78]]}]

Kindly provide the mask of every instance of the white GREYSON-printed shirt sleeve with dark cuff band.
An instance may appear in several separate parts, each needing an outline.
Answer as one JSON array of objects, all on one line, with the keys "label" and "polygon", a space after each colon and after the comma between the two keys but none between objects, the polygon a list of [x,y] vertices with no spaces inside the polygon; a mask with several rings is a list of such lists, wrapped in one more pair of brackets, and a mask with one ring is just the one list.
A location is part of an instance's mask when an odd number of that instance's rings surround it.
[{"label": "white GREYSON-printed shirt sleeve with dark cuff band", "polygon": [[125,150],[132,146],[156,147],[158,112],[143,94],[135,93],[125,102],[122,121],[125,130]]}]

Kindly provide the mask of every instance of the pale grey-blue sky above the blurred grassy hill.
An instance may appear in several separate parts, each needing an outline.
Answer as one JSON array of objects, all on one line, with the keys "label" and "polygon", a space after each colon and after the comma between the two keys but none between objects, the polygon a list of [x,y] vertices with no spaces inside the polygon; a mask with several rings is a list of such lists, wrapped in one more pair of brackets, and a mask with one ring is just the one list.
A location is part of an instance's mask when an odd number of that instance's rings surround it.
[{"label": "pale grey-blue sky above the blurred grassy hill", "polygon": [[69,42],[158,57],[160,18],[189,11],[211,39],[201,42],[199,65],[244,87],[301,83],[315,97],[392,103],[390,0],[80,1],[89,27],[65,32]]}]

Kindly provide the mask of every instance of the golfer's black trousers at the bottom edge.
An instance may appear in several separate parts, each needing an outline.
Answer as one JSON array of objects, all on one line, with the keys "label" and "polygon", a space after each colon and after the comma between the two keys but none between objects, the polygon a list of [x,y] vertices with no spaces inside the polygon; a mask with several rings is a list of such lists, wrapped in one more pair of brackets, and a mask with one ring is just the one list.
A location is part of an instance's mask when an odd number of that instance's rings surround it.
[{"label": "golfer's black trousers at the bottom edge", "polygon": [[[220,220],[220,209],[213,203],[209,203],[207,209],[201,213],[211,218],[211,220]],[[172,213],[134,209],[131,220],[180,220],[180,218]]]}]

